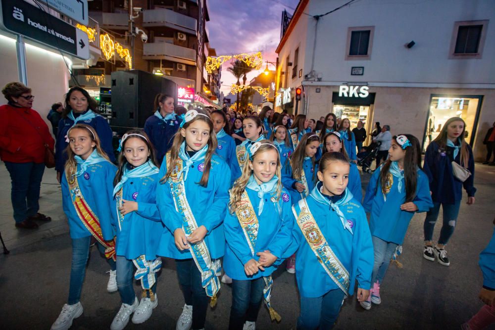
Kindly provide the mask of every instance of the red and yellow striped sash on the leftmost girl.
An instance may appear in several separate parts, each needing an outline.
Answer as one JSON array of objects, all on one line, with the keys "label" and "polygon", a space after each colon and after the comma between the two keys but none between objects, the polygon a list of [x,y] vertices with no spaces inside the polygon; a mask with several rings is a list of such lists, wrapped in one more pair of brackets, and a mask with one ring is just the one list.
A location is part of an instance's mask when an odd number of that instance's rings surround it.
[{"label": "red and yellow striped sash on the leftmost girl", "polygon": [[77,216],[91,235],[93,235],[93,237],[95,237],[96,240],[98,240],[98,242],[105,247],[105,257],[107,259],[112,258],[115,261],[115,239],[111,241],[106,241],[103,239],[99,219],[88,203],[86,203],[84,196],[81,194],[77,177],[72,175],[69,176],[69,174],[65,172],[65,178],[67,179],[67,183],[69,185],[70,198],[72,199],[72,205],[74,205],[74,208],[76,209]]}]

